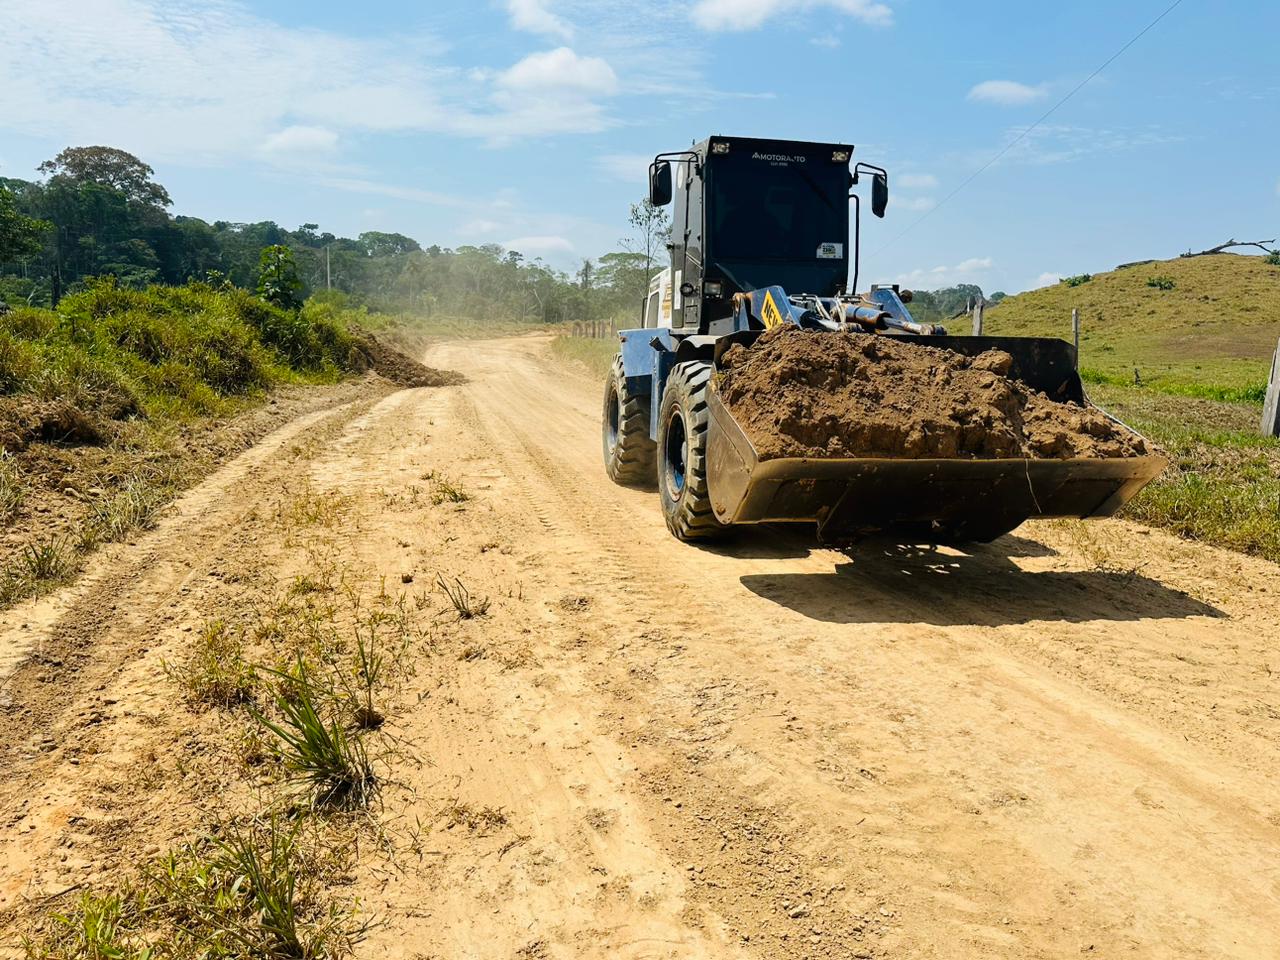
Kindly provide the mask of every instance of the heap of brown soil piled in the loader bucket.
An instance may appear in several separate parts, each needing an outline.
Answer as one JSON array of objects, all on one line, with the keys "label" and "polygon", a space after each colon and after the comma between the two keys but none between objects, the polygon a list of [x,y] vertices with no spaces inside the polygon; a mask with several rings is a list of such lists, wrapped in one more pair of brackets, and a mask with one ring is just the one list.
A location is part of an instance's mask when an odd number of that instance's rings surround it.
[{"label": "heap of brown soil piled in the loader bucket", "polygon": [[723,356],[718,388],[762,460],[1147,453],[1100,410],[1009,379],[1011,364],[1004,351],[966,357],[884,335],[776,328]]}]

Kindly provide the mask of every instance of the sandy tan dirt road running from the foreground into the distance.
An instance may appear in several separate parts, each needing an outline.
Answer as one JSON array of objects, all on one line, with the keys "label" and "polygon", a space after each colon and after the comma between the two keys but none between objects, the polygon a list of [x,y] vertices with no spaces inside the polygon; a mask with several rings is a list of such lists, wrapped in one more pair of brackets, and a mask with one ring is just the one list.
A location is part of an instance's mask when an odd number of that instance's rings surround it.
[{"label": "sandy tan dirt road running from the foreground into the distance", "polygon": [[1275,566],[1120,522],[689,547],[605,479],[599,385],[545,338],[426,360],[470,383],[297,421],[5,614],[0,908],[252,792],[164,664],[328,564],[412,581],[431,636],[365,956],[1280,956]]}]

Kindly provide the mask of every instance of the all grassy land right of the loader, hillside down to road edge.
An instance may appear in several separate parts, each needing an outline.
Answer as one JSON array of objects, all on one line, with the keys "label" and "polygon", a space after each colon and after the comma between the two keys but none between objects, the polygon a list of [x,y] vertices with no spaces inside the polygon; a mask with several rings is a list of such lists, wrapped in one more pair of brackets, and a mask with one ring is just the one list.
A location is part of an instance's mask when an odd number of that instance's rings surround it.
[{"label": "all grassy land right of the loader, hillside down to road edge", "polygon": [[1216,253],[1069,278],[992,307],[987,330],[1069,339],[1078,308],[1091,397],[1170,460],[1124,515],[1280,562],[1280,440],[1258,433],[1280,337],[1275,261]]}]

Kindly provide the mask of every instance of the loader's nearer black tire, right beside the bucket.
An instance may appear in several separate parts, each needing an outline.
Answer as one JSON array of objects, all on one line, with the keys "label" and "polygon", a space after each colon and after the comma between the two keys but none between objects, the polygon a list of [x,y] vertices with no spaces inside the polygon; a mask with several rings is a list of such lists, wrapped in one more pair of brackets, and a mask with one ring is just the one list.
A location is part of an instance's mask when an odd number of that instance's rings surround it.
[{"label": "loader's nearer black tire, right beside the bucket", "polygon": [[707,387],[712,365],[677,364],[658,417],[658,497],[677,540],[716,540],[730,527],[716,518],[707,489]]}]

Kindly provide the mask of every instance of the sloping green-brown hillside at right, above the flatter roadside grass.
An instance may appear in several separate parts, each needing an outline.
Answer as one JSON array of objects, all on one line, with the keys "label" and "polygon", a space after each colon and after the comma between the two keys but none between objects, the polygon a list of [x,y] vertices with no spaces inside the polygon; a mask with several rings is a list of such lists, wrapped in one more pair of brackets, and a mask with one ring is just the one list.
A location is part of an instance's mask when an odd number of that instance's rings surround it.
[{"label": "sloping green-brown hillside at right, above the flatter roadside grass", "polygon": [[1162,392],[1261,402],[1280,337],[1280,266],[1233,253],[1125,266],[1009,297],[988,308],[984,332],[1070,339],[1073,307],[1087,379],[1133,383],[1137,367]]}]

